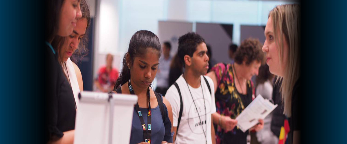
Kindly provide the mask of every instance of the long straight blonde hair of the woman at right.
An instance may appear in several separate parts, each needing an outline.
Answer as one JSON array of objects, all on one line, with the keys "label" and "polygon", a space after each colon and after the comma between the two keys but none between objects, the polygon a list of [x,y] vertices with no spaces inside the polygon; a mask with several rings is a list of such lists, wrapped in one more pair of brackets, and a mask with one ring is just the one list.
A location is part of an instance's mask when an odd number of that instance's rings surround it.
[{"label": "long straight blonde hair of the woman at right", "polygon": [[[293,88],[300,76],[300,7],[298,4],[284,4],[276,6],[270,11],[269,17],[273,21],[274,38],[276,41],[280,67],[283,56],[287,55],[283,77],[277,77],[277,82],[282,80],[281,92],[284,114],[291,116],[291,98]],[[283,36],[288,44],[287,53],[284,52]]]}]

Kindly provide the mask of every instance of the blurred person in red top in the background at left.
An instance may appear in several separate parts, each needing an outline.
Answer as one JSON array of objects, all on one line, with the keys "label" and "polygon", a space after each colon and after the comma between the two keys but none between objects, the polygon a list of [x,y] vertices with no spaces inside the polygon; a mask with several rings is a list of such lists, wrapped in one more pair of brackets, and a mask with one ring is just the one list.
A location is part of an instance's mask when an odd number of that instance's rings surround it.
[{"label": "blurred person in red top in the background at left", "polygon": [[99,68],[98,75],[95,79],[95,86],[97,92],[108,93],[113,90],[118,78],[118,70],[112,67],[113,56],[106,55],[106,66]]}]

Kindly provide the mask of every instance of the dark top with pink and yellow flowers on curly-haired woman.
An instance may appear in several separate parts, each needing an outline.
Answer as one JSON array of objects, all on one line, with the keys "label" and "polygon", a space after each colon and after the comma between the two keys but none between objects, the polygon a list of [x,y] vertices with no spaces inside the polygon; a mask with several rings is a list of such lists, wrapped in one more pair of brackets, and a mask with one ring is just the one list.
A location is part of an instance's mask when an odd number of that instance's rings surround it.
[{"label": "dark top with pink and yellow flowers on curly-haired woman", "polygon": [[[217,90],[215,102],[217,112],[235,119],[254,99],[254,86],[247,80],[247,94],[240,94],[234,83],[234,73],[231,64],[218,63],[212,67],[217,77]],[[246,133],[237,126],[227,133],[218,125],[214,125],[217,144],[246,144]]]}]

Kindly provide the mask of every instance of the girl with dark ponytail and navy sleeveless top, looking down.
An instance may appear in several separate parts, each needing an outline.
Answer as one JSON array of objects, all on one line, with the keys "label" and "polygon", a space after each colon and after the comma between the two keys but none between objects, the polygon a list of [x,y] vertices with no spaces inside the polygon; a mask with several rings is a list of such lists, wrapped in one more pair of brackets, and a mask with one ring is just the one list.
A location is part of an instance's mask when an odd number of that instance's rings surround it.
[{"label": "girl with dark ponytail and navy sleeveless top, looking down", "polygon": [[[123,59],[123,68],[113,91],[135,94],[138,97],[134,108],[130,144],[172,143],[171,105],[150,87],[158,69],[160,56],[159,39],[151,31],[137,31],[130,39],[128,52]],[[160,108],[161,105],[163,109]]]}]

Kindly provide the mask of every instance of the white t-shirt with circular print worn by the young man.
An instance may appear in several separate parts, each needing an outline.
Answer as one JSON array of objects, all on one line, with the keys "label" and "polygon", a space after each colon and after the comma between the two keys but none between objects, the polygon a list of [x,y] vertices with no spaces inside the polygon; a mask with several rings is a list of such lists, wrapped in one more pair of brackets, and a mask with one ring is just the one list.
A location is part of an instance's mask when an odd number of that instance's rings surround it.
[{"label": "white t-shirt with circular print worn by the young man", "polygon": [[[216,112],[215,102],[214,102],[214,86],[213,81],[210,77],[205,76],[208,80],[211,88],[212,96],[209,92],[209,89],[206,85],[206,82],[201,78],[201,85],[198,88],[193,88],[189,86],[190,91],[187,87],[187,83],[181,75],[176,83],[181,91],[182,102],[183,102],[183,111],[181,121],[179,123],[179,128],[176,136],[176,144],[212,144],[211,140],[211,114]],[[193,102],[193,99],[195,102]],[[174,116],[174,127],[177,127],[179,110],[180,110],[180,98],[175,85],[171,85],[168,91],[166,92],[165,98],[170,102],[172,108],[172,114]],[[205,105],[206,104],[206,113]],[[198,109],[198,113],[196,112]],[[199,118],[200,115],[200,118]],[[200,121],[201,119],[201,121]],[[206,132],[207,128],[207,132]],[[205,138],[205,134],[206,138]]]}]

